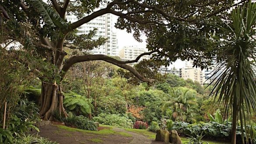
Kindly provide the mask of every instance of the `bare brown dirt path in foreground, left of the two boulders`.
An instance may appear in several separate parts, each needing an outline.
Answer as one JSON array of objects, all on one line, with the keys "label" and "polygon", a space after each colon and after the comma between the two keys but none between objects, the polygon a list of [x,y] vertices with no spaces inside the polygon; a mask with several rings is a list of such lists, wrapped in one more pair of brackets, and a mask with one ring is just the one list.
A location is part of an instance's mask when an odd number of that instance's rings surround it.
[{"label": "bare brown dirt path in foreground, left of the two boulders", "polygon": [[[98,134],[75,130],[65,130],[55,125],[40,127],[39,135],[56,141],[59,144],[164,144],[151,140],[142,134],[126,131],[121,128],[113,128],[116,133]],[[129,136],[118,133],[128,133]]]}]

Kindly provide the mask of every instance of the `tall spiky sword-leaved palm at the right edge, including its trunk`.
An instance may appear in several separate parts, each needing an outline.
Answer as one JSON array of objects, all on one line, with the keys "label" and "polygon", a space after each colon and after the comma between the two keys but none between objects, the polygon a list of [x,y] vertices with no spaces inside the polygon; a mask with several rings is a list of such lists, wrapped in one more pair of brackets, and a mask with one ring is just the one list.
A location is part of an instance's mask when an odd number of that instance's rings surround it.
[{"label": "tall spiky sword-leaved palm at the right edge, including its trunk", "polygon": [[[217,42],[219,63],[213,74],[218,77],[214,79],[211,94],[218,104],[224,105],[226,115],[232,110],[231,144],[235,144],[238,119],[242,140],[245,132],[246,141],[249,141],[252,137],[249,119],[256,113],[256,77],[252,70],[256,48],[256,4],[249,1],[234,8],[229,18],[223,22],[224,26],[214,25],[221,34],[220,42]],[[217,74],[219,70],[222,70],[221,74]]]}]

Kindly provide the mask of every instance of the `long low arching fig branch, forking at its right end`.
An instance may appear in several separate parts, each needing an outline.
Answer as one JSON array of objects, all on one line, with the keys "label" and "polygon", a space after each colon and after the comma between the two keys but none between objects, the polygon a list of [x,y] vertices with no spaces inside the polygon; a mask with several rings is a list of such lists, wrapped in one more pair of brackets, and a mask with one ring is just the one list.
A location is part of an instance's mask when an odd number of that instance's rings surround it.
[{"label": "long low arching fig branch, forking at its right end", "polygon": [[148,83],[153,83],[155,80],[154,79],[148,79],[143,77],[141,74],[138,73],[137,70],[135,70],[133,67],[125,64],[125,63],[133,63],[133,62],[137,62],[139,60],[139,58],[141,56],[144,55],[149,55],[151,53],[155,53],[157,51],[152,51],[149,53],[142,53],[141,55],[139,55],[136,60],[130,60],[130,61],[119,61],[116,60],[112,57],[106,56],[106,55],[84,55],[84,56],[72,56],[70,59],[67,60],[67,62],[64,64],[63,68],[62,68],[62,73],[61,73],[61,77],[65,77],[67,71],[69,70],[69,68],[74,65],[75,63],[79,63],[79,62],[85,62],[85,61],[92,61],[92,60],[103,60],[105,62],[108,63],[112,63],[118,67],[124,68],[126,70],[129,70],[130,72],[132,72],[132,74],[134,74],[136,77],[139,78],[139,80],[144,81],[144,82],[148,82]]}]

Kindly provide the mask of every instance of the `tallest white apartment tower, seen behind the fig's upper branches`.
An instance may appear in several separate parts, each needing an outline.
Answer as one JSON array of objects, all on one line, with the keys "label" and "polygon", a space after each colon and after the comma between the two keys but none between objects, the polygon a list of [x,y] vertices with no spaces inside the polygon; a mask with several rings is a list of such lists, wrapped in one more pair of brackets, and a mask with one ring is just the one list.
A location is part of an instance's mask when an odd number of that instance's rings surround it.
[{"label": "tallest white apartment tower, seen behind the fig's upper branches", "polygon": [[[100,7],[100,8],[103,8]],[[78,18],[73,14],[66,15],[67,21],[71,23],[78,21]],[[97,28],[97,33],[92,39],[99,39],[100,37],[107,38],[107,42],[98,48],[92,49],[93,54],[105,54],[110,56],[118,56],[117,34],[113,32],[114,23],[112,14],[104,14],[92,19],[86,24],[78,27],[78,35],[88,34],[90,30]]]}]

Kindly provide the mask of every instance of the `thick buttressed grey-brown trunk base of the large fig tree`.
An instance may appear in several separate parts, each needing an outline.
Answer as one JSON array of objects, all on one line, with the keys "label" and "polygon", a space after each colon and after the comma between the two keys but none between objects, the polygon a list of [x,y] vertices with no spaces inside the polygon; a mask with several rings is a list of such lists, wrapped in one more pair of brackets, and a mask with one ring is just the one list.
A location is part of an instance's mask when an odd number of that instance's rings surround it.
[{"label": "thick buttressed grey-brown trunk base of the large fig tree", "polygon": [[61,87],[55,84],[42,82],[39,114],[44,120],[53,120],[53,112],[60,112],[68,116],[63,107],[63,93]]}]

